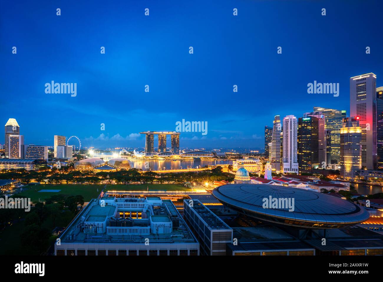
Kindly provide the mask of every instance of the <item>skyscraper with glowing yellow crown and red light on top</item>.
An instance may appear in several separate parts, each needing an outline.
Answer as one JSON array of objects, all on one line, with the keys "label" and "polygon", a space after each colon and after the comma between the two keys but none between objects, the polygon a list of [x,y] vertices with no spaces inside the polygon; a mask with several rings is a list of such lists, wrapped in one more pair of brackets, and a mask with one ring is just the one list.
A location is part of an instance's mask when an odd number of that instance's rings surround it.
[{"label": "skyscraper with glowing yellow crown and red light on top", "polygon": [[340,129],[340,176],[354,179],[355,171],[362,168],[361,139],[362,129],[359,117],[345,118]]}]

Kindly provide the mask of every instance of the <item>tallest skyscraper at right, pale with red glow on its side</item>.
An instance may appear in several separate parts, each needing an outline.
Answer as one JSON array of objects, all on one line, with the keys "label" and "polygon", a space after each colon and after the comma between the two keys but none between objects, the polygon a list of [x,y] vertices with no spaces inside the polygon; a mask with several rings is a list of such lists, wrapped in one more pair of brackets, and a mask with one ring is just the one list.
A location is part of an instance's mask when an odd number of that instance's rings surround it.
[{"label": "tallest skyscraper at right, pale with red glow on its side", "polygon": [[376,75],[372,72],[350,78],[350,116],[362,128],[362,167],[376,169]]}]

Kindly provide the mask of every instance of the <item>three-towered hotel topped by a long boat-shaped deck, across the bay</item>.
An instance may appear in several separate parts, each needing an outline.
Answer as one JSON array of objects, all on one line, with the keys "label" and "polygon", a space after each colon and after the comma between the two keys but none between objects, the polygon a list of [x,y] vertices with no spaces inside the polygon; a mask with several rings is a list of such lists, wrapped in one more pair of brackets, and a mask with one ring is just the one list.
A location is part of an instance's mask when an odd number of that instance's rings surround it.
[{"label": "three-towered hotel topped by a long boat-shaped deck, across the bay", "polygon": [[180,133],[175,131],[170,132],[158,132],[158,131],[146,131],[140,132],[140,134],[146,134],[145,139],[145,152],[154,152],[154,134],[158,134],[158,152],[166,152],[166,136],[170,135],[172,140],[172,152],[173,154],[180,154]]}]

